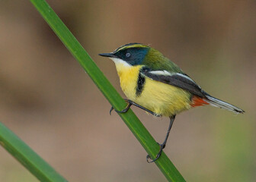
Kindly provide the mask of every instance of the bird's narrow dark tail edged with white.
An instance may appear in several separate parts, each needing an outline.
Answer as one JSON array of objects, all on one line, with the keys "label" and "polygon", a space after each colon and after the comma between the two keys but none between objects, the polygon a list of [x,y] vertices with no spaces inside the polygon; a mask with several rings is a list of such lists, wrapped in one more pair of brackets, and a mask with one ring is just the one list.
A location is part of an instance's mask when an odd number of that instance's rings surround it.
[{"label": "bird's narrow dark tail edged with white", "polygon": [[208,102],[210,105],[213,105],[213,106],[218,107],[218,108],[224,108],[224,109],[227,109],[229,111],[233,111],[236,114],[245,112],[241,108],[235,107],[235,105],[231,105],[231,104],[229,104],[227,102],[224,102],[220,99],[216,99],[213,96],[210,96],[208,94],[206,94],[205,101]]}]

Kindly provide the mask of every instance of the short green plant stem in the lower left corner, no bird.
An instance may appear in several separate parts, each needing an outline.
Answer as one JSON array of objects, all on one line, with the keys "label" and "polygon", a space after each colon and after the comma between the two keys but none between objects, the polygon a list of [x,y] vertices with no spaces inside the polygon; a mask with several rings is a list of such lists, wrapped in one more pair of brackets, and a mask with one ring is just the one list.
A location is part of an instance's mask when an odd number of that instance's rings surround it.
[{"label": "short green plant stem in the lower left corner, no bird", "polygon": [[40,181],[67,181],[0,122],[0,144]]}]

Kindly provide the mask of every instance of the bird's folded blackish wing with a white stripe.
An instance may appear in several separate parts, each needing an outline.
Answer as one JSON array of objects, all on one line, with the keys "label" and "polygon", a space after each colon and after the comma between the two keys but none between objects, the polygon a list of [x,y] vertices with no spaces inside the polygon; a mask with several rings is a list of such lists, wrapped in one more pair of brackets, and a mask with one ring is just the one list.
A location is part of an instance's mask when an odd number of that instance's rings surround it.
[{"label": "bird's folded blackish wing with a white stripe", "polygon": [[145,77],[149,77],[152,80],[177,86],[181,89],[189,91],[190,93],[193,93],[194,95],[205,97],[205,93],[200,86],[198,86],[194,80],[185,74],[170,73],[168,71],[149,71],[147,69],[144,69],[141,74]]}]

